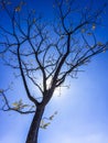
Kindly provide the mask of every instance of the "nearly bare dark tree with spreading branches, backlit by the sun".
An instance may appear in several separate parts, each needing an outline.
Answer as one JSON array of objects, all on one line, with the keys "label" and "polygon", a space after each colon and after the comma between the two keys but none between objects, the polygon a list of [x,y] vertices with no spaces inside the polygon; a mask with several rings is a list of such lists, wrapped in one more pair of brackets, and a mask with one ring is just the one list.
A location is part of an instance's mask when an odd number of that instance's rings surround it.
[{"label": "nearly bare dark tree with spreading branches, backlit by the sun", "polygon": [[[17,70],[31,101],[31,106],[22,100],[11,105],[7,90],[1,89],[1,110],[33,113],[26,143],[37,143],[42,116],[54,90],[67,77],[76,77],[80,67],[88,64],[91,57],[108,50],[108,43],[97,41],[95,35],[95,29],[101,26],[100,15],[106,4],[91,11],[91,6],[77,8],[74,0],[55,0],[57,19],[48,25],[35,15],[34,10],[28,10],[23,16],[24,2],[12,7],[11,2],[1,0],[0,6],[10,25],[7,29],[4,23],[0,24],[0,55],[7,66]],[[33,95],[30,84],[40,94]]]}]

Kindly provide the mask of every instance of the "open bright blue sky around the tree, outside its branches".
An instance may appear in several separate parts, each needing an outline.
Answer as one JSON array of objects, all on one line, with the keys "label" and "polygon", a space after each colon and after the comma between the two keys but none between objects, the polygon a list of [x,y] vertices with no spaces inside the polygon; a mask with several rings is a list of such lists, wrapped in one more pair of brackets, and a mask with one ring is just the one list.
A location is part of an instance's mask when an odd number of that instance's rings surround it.
[{"label": "open bright blue sky around the tree, outside its branches", "polygon": [[[51,3],[33,0],[30,7],[39,8],[39,11],[47,8],[45,14],[50,18]],[[100,3],[101,0],[98,6]],[[102,31],[102,36],[98,32],[97,35],[106,41],[108,28]],[[46,130],[40,130],[39,143],[108,143],[108,52],[94,57],[84,69],[77,79],[67,82],[71,88],[61,89],[62,95],[55,95],[46,107],[45,117],[55,111],[57,114]],[[0,61],[0,88],[7,87],[12,79],[17,89],[9,92],[11,100],[11,96],[18,99],[23,95],[22,85],[12,74]],[[0,143],[24,143],[31,121],[32,116],[0,112]]]}]

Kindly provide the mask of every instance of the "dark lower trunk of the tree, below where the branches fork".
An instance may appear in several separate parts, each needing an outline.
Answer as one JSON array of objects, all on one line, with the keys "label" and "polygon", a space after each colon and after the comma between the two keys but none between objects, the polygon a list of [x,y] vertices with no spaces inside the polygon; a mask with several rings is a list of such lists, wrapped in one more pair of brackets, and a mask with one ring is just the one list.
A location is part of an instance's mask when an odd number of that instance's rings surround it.
[{"label": "dark lower trunk of the tree, below where the branches fork", "polygon": [[43,112],[44,112],[44,108],[36,109],[36,112],[33,117],[25,143],[37,143],[37,133],[39,133],[40,122],[41,122]]}]

